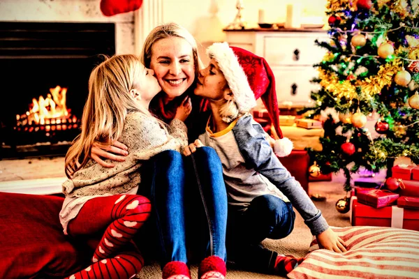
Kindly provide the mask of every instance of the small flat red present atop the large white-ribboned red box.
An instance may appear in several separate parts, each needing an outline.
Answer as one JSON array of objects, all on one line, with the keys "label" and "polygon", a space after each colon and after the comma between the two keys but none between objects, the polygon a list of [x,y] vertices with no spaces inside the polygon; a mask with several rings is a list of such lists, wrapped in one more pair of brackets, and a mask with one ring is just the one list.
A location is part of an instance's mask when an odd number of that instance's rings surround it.
[{"label": "small flat red present atop the large white-ribboned red box", "polygon": [[373,206],[376,209],[384,206],[390,206],[397,203],[399,194],[392,193],[388,190],[358,190],[356,193],[358,202]]}]

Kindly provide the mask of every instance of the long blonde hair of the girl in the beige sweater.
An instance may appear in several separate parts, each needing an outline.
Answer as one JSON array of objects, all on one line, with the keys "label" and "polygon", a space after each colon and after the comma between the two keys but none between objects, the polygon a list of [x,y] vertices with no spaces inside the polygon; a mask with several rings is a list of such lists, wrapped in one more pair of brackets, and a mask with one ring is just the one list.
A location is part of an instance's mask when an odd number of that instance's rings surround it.
[{"label": "long blonde hair of the girl in the beige sweater", "polygon": [[[106,56],[105,56],[106,57]],[[73,141],[65,159],[66,176],[86,165],[94,142],[110,145],[119,139],[128,111],[150,115],[131,96],[138,89],[144,66],[132,54],[116,55],[96,66],[89,77],[89,96],[84,105],[82,133]]]}]

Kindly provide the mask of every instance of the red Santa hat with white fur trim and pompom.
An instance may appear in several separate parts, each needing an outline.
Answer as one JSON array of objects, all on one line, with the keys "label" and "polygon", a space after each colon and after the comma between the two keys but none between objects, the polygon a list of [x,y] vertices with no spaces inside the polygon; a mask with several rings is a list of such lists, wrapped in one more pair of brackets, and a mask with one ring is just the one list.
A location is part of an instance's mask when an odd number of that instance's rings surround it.
[{"label": "red Santa hat with white fur trim and pompom", "polygon": [[267,61],[240,47],[230,47],[228,43],[212,44],[207,54],[215,59],[226,77],[241,114],[249,112],[256,106],[256,99],[262,98],[279,137],[275,142],[275,154],[279,157],[288,156],[293,149],[293,142],[284,137],[279,128],[275,77]]}]

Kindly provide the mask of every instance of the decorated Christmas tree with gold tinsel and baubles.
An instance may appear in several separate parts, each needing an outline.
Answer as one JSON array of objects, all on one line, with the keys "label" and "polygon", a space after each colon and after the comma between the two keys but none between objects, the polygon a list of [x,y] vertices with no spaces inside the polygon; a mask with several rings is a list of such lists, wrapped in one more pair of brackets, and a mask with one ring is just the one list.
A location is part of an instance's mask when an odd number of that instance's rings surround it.
[{"label": "decorated Christmas tree with gold tinsel and baubles", "polygon": [[[309,149],[324,174],[346,176],[360,167],[391,168],[406,156],[419,163],[419,0],[329,0],[330,41],[318,67],[321,89],[311,93],[313,107],[300,113],[314,118],[334,108],[324,121],[322,151]],[[379,115],[372,137],[367,116]]]}]

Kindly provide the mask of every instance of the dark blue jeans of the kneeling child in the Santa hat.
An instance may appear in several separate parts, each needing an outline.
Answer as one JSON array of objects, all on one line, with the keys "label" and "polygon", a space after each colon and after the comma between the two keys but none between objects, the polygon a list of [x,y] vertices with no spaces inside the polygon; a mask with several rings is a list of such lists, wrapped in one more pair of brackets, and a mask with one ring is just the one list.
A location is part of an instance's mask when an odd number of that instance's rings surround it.
[{"label": "dark blue jeans of the kneeling child in the Santa hat", "polygon": [[251,201],[247,211],[228,209],[228,260],[244,269],[271,273],[277,252],[263,248],[263,239],[283,239],[294,228],[295,213],[290,202],[273,195]]}]

